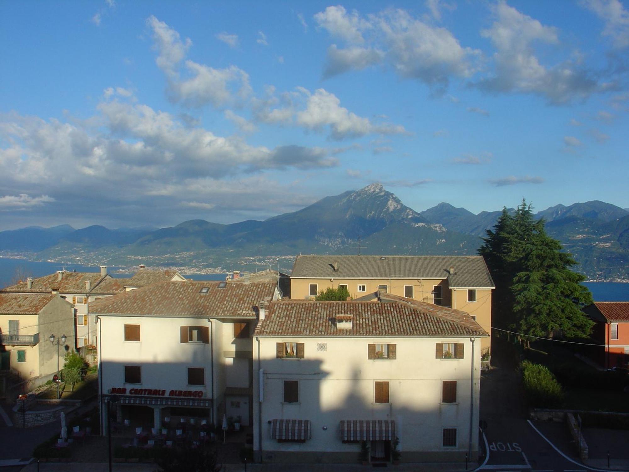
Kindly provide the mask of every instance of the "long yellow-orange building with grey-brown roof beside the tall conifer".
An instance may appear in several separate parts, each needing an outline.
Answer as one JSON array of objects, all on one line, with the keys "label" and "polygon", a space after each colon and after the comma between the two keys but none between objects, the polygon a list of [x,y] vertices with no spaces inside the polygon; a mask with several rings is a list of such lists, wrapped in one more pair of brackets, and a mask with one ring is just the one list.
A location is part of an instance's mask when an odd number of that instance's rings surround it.
[{"label": "long yellow-orange building with grey-brown roof beside the tall conifer", "polygon": [[[313,299],[345,286],[353,300],[392,295],[469,313],[491,334],[491,291],[496,288],[482,256],[298,256],[291,298]],[[481,340],[488,353],[491,340]]]}]

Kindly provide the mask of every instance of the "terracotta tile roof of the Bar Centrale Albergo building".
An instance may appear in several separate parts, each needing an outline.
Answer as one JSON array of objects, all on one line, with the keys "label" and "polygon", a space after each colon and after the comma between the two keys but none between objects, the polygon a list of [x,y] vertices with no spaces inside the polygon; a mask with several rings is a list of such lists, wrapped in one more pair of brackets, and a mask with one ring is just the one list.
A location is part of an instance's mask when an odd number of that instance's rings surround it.
[{"label": "terracotta tile roof of the Bar Centrale Albergo building", "polygon": [[[223,282],[224,283],[224,282]],[[255,318],[260,301],[270,300],[276,284],[218,281],[165,281],[92,301],[90,313],[111,315]],[[201,293],[208,288],[207,293]]]}]

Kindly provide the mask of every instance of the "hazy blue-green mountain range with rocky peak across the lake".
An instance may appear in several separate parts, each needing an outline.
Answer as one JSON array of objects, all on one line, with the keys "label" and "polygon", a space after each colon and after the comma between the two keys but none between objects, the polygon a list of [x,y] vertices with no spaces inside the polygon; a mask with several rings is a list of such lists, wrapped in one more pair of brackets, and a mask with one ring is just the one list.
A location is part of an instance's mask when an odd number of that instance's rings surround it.
[{"label": "hazy blue-green mountain range with rocky peak across the lake", "polygon": [[[346,191],[293,213],[230,225],[189,220],[170,228],[69,225],[0,232],[0,251],[79,264],[251,270],[292,267],[306,254],[476,254],[501,211],[475,215],[440,203],[420,213],[381,184]],[[556,205],[535,215],[590,279],[629,279],[629,211],[602,201]]]}]

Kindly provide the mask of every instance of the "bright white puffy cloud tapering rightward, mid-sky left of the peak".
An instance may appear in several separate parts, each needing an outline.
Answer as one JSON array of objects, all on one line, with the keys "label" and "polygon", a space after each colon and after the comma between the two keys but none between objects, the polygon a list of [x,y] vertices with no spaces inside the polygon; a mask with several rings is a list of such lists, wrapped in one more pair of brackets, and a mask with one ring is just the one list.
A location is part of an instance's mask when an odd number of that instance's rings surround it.
[{"label": "bright white puffy cloud tapering rightward, mid-sky left of the peak", "polygon": [[404,126],[381,124],[374,125],[367,118],[355,115],[340,106],[340,100],[325,89],[317,89],[308,96],[306,110],[296,115],[297,123],[305,128],[321,130],[330,127],[333,139],[360,137],[370,133],[404,134]]}]

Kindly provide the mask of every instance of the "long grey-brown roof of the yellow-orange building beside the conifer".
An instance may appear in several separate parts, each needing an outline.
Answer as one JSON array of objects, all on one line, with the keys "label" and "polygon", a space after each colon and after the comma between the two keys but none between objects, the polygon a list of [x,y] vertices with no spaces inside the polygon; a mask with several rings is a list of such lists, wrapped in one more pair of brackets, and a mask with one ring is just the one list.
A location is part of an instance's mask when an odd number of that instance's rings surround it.
[{"label": "long grey-brown roof of the yellow-orange building beside the conifer", "polygon": [[297,256],[291,277],[448,279],[450,288],[494,288],[482,256]]}]

